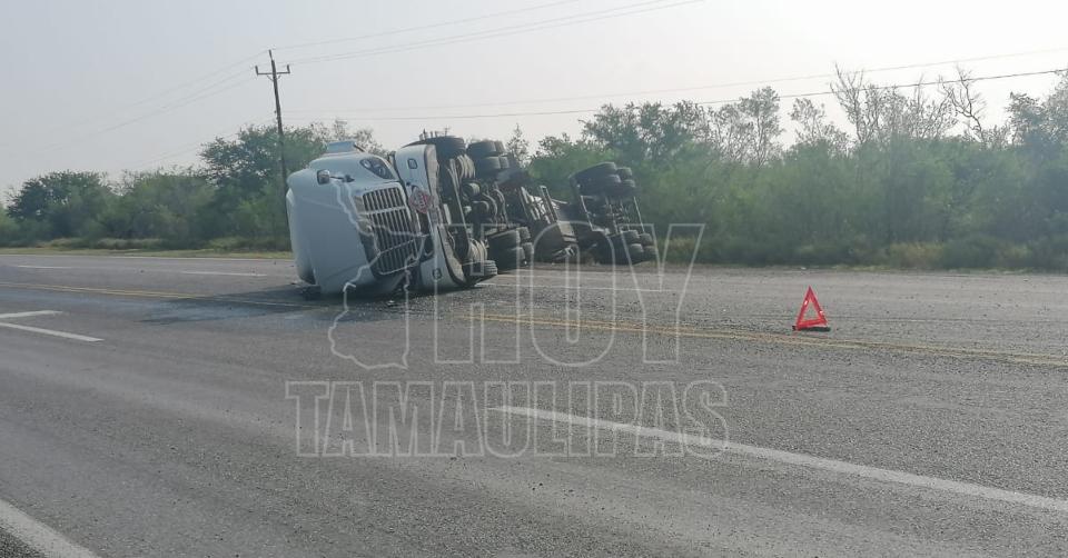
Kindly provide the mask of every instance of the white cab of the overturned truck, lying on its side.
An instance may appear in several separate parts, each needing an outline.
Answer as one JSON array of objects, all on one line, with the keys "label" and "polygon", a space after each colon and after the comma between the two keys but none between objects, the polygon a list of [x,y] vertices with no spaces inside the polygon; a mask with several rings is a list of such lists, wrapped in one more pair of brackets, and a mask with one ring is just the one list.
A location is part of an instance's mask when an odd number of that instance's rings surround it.
[{"label": "white cab of the overturned truck, lying on its side", "polygon": [[289,176],[289,238],[309,292],[445,290],[496,275],[485,246],[442,202],[435,146],[407,146],[394,161],[339,141]]}]

